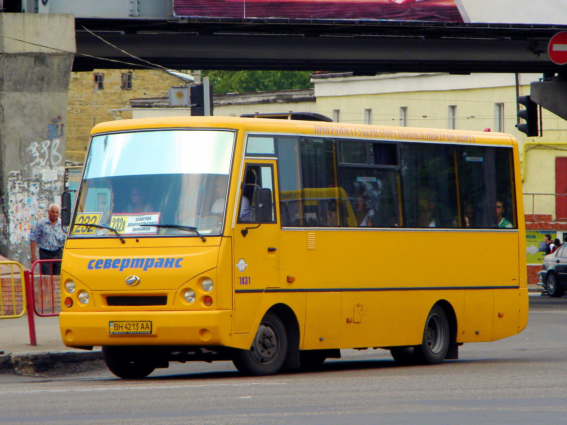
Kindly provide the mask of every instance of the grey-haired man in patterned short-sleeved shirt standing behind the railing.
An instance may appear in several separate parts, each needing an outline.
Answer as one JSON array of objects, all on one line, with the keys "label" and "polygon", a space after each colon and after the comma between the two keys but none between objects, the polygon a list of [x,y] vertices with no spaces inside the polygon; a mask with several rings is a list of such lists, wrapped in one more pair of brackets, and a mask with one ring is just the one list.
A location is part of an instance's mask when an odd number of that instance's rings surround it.
[{"label": "grey-haired man in patterned short-sleeved shirt standing behind the railing", "polygon": [[[63,257],[66,235],[61,226],[59,211],[59,206],[52,203],[47,211],[48,216],[36,223],[33,234],[29,238],[32,264],[37,260],[36,245],[39,248],[40,260],[58,260]],[[52,270],[53,273],[51,273]],[[41,263],[41,274],[61,274],[61,262]]]}]

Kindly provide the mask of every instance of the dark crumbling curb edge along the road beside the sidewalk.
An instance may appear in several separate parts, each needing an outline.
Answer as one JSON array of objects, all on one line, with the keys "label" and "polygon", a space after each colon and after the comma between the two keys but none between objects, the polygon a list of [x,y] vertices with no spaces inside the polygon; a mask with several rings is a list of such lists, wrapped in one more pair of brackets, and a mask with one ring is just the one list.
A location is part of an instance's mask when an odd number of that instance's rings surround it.
[{"label": "dark crumbling curb edge along the road beside the sidewalk", "polygon": [[89,352],[38,352],[0,355],[0,373],[15,372],[22,375],[40,373],[77,372],[102,366],[101,351]]}]

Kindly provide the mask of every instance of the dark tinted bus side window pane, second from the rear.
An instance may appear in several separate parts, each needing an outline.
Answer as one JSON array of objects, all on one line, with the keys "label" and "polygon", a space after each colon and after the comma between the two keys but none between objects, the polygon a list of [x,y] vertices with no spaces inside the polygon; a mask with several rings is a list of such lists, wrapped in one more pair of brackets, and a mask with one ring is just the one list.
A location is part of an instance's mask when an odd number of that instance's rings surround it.
[{"label": "dark tinted bus side window pane, second from the rear", "polygon": [[402,143],[404,227],[464,227],[459,220],[452,146]]}]

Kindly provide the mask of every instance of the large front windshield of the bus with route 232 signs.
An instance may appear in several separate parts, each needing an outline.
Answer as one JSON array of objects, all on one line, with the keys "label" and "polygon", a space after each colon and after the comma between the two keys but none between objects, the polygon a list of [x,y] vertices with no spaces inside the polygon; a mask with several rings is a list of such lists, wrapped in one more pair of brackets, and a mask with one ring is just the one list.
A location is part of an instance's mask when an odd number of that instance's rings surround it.
[{"label": "large front windshield of the bus with route 232 signs", "polygon": [[219,129],[94,135],[71,236],[221,233],[234,139]]}]

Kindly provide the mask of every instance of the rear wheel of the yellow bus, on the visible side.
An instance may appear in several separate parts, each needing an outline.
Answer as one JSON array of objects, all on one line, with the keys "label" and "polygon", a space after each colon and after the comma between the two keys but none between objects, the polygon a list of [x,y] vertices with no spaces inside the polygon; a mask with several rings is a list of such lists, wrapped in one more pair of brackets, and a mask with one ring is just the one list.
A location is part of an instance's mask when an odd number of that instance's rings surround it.
[{"label": "rear wheel of the yellow bus, on the visible side", "polygon": [[450,343],[449,321],[439,306],[431,308],[425,321],[421,345],[415,346],[413,354],[420,364],[438,364],[445,360]]}]

